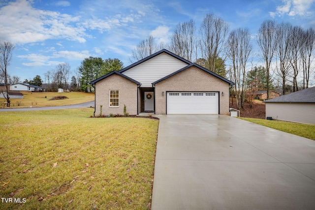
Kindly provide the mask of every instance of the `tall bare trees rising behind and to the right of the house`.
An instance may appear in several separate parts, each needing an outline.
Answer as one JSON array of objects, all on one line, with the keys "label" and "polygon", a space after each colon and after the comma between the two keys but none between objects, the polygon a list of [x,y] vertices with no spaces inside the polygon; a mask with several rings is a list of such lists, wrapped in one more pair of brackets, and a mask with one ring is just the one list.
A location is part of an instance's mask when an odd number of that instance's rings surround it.
[{"label": "tall bare trees rising behind and to the right of the house", "polygon": [[[253,53],[254,44],[259,48],[258,55]],[[268,98],[273,85],[281,87],[282,94],[288,86],[292,86],[292,91],[308,88],[314,73],[314,44],[313,28],[265,20],[253,39],[248,28],[230,31],[226,22],[211,13],[198,28],[193,20],[178,23],[169,44],[157,44],[152,35],[143,39],[132,51],[130,61],[165,48],[235,82],[233,92],[242,108],[250,87],[247,75],[250,70],[257,72],[255,68],[264,68],[264,82],[255,80],[259,89],[267,90]],[[262,61],[261,66],[255,66],[254,60]]]}]

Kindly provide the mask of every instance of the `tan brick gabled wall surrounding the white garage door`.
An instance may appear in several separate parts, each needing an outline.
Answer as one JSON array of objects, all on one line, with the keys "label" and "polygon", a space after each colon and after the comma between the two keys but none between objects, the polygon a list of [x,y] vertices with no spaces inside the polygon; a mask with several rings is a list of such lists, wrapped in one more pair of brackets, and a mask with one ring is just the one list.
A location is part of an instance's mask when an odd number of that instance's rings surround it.
[{"label": "tan brick gabled wall surrounding the white garage door", "polygon": [[156,84],[156,114],[166,114],[166,91],[220,91],[220,114],[229,114],[229,84],[195,66]]}]

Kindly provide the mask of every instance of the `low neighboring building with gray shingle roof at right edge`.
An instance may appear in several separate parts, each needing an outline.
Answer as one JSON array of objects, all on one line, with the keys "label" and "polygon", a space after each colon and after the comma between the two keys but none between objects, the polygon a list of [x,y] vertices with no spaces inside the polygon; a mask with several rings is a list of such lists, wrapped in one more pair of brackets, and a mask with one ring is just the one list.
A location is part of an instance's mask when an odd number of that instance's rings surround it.
[{"label": "low neighboring building with gray shingle roof at right edge", "polygon": [[315,87],[266,100],[266,117],[315,124]]}]

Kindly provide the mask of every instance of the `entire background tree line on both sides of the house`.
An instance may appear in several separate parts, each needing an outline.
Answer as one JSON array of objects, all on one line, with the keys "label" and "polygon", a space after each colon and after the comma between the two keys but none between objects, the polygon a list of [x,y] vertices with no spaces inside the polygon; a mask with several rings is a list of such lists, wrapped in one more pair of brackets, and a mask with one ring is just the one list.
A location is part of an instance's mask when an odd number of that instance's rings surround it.
[{"label": "entire background tree line on both sides of the house", "polygon": [[[230,31],[225,21],[211,13],[204,17],[199,27],[193,20],[178,23],[169,40],[168,44],[158,44],[153,36],[148,36],[136,45],[129,60],[133,63],[167,49],[233,81],[235,85],[231,91],[238,108],[244,105],[246,90],[267,90],[269,98],[269,90],[274,86],[281,87],[282,94],[288,86],[292,91],[308,88],[314,73],[313,28],[303,29],[290,23],[265,20],[253,39],[248,28]],[[259,48],[257,55],[253,53],[254,44]],[[6,70],[13,49],[13,44],[1,42],[0,79],[5,84],[19,80],[10,77]],[[254,65],[254,60],[262,61],[261,66]],[[44,74],[46,90],[94,91],[91,81],[123,67],[119,59],[85,58],[68,82],[71,67],[68,63],[60,63]]]}]

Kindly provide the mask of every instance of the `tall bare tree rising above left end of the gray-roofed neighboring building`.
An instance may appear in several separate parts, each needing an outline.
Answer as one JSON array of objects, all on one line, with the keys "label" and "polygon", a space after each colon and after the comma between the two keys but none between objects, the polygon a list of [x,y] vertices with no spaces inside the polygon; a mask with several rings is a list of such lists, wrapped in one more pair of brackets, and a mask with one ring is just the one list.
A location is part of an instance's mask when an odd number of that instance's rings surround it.
[{"label": "tall bare tree rising above left end of the gray-roofed neighboring building", "polygon": [[273,56],[276,50],[275,44],[276,23],[274,20],[265,20],[258,30],[257,44],[260,48],[260,56],[265,62],[266,79],[267,79],[267,98],[269,98],[269,82],[270,82],[270,68]]}]

